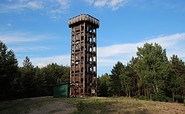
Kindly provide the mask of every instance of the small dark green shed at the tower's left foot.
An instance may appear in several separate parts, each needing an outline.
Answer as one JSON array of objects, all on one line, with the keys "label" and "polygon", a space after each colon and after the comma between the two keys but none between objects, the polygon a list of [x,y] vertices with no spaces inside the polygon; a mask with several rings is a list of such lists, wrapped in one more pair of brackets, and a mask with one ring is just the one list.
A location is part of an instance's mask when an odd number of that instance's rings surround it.
[{"label": "small dark green shed at the tower's left foot", "polygon": [[69,97],[69,83],[62,83],[53,87],[53,97],[66,98]]}]

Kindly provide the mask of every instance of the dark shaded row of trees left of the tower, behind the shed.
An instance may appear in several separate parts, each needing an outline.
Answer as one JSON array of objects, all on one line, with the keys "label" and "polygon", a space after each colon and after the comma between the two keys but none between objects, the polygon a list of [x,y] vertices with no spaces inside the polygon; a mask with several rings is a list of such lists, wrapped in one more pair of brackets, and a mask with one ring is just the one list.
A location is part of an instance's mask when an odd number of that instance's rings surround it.
[{"label": "dark shaded row of trees left of the tower, behind the shed", "polygon": [[69,71],[56,63],[34,67],[29,57],[19,67],[14,52],[0,41],[0,100],[52,95],[54,85],[69,82]]}]

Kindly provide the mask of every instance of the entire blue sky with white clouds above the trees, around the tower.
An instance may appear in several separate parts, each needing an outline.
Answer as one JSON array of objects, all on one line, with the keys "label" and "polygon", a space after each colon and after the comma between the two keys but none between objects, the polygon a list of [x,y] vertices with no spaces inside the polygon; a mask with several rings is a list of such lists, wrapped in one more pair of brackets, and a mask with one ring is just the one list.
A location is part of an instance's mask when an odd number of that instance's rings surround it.
[{"label": "entire blue sky with white clouds above the trees, around the tower", "polygon": [[125,65],[144,43],[159,43],[170,58],[185,61],[184,0],[1,0],[0,40],[22,65],[70,65],[68,19],[90,14],[100,20],[97,31],[98,74]]}]

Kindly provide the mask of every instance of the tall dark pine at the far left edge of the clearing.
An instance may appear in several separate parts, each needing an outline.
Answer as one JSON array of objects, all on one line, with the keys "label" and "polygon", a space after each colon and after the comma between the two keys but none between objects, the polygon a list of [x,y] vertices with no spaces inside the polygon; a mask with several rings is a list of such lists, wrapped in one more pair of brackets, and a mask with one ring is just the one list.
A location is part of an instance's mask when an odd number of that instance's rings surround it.
[{"label": "tall dark pine at the far left edge of the clearing", "polygon": [[8,99],[13,94],[13,82],[18,76],[18,62],[12,50],[0,41],[0,99]]}]

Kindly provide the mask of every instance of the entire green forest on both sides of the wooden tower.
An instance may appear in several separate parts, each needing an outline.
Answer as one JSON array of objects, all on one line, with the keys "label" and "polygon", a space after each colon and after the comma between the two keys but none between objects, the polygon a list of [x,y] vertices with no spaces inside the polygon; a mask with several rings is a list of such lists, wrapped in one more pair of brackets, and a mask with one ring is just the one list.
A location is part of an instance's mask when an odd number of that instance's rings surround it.
[{"label": "entire green forest on both sides of the wooden tower", "polygon": [[[173,55],[168,60],[166,50],[157,43],[145,43],[137,48],[136,55],[127,65],[118,61],[111,74],[98,76],[98,96],[182,103],[185,97],[182,59]],[[18,66],[13,50],[0,41],[0,100],[50,96],[54,85],[69,82],[69,66],[52,63],[39,68],[32,65],[29,57],[22,64]]]}]

